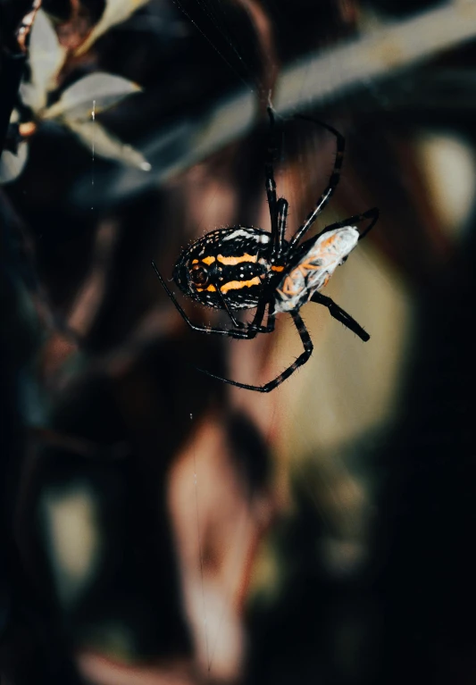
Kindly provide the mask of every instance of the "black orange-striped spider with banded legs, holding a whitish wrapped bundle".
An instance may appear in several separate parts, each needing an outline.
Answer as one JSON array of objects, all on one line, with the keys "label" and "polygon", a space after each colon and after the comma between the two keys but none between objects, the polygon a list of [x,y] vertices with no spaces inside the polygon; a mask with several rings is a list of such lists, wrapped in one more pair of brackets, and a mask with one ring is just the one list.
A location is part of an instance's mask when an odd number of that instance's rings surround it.
[{"label": "black orange-striped spider with banded legs, holding a whitish wrapped bundle", "polygon": [[[203,369],[199,370],[230,385],[256,392],[271,392],[312,355],[313,343],[299,314],[300,308],[309,301],[327,307],[334,319],[354,331],[364,342],[370,338],[350,314],[330,297],[322,295],[319,290],[327,284],[338,265],[346,261],[357,241],[372,229],[379,217],[379,210],[374,207],[362,214],[355,214],[344,221],[333,223],[317,236],[301,242],[338,186],[345,138],[322,121],[298,115],[297,118],[313,121],[335,136],[337,155],[327,188],[302,226],[289,241],[286,240],[288,201],[284,197],[278,198],[276,194],[273,161],[278,148],[275,138],[275,116],[271,106],[268,107],[268,115],[271,142],[265,162],[265,182],[270,206],[271,232],[239,225],[213,230],[183,250],[172,274],[173,280],[186,296],[201,305],[224,310],[230,318],[232,328],[211,327],[191,322],[152,262],[165,292],[191,330],[249,340],[255,338],[258,333],[271,333],[274,330],[277,313],[288,312],[291,315],[303,343],[304,352],[274,380],[256,386],[221,378]],[[359,234],[352,224],[365,219],[370,220],[370,223]],[[266,308],[268,315],[263,325]],[[234,312],[240,309],[255,309],[253,321],[239,322]]]}]

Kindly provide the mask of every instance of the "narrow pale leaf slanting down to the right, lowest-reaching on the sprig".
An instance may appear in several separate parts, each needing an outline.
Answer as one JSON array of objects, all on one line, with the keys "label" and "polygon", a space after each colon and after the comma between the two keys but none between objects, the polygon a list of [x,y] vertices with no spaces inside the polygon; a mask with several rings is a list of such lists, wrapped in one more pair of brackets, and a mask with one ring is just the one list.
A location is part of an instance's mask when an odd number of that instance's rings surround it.
[{"label": "narrow pale leaf slanting down to the right, lowest-reaching on the sprig", "polygon": [[142,171],[150,171],[151,166],[142,153],[134,147],[122,143],[98,121],[75,121],[65,119],[64,125],[71,129],[81,142],[87,146],[93,155],[100,155],[106,159],[129,164]]}]

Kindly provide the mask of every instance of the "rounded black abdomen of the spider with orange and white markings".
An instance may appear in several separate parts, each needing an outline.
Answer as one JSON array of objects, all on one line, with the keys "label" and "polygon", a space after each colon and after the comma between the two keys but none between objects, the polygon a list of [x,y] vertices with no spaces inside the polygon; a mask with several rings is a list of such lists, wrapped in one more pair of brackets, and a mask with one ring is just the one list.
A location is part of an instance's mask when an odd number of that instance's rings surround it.
[{"label": "rounded black abdomen of the spider with orange and white markings", "polygon": [[202,305],[252,309],[274,271],[271,234],[248,226],[213,230],[180,255],[173,278],[182,292]]}]

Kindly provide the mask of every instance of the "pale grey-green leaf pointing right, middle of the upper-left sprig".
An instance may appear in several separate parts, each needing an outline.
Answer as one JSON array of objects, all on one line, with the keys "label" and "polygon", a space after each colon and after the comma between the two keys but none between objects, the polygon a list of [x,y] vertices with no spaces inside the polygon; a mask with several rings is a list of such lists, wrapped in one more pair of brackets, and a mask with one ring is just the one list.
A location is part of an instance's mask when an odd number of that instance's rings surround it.
[{"label": "pale grey-green leaf pointing right, middle of the upper-left sprig", "polygon": [[95,113],[99,113],[140,90],[133,81],[97,71],[66,88],[58,102],[48,107],[43,119],[55,119],[59,116],[76,120],[88,119],[92,114],[93,103]]}]

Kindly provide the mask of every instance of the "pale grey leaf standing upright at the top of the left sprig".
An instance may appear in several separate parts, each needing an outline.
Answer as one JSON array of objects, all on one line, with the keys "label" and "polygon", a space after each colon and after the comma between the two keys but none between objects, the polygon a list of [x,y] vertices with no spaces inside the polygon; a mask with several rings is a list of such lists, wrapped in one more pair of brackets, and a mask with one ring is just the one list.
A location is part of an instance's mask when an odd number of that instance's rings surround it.
[{"label": "pale grey leaf standing upright at the top of the left sprig", "polygon": [[53,25],[43,10],[38,10],[29,38],[31,82],[22,83],[21,98],[35,112],[46,105],[48,90],[55,88],[55,77],[61,70],[66,51],[60,45]]}]

